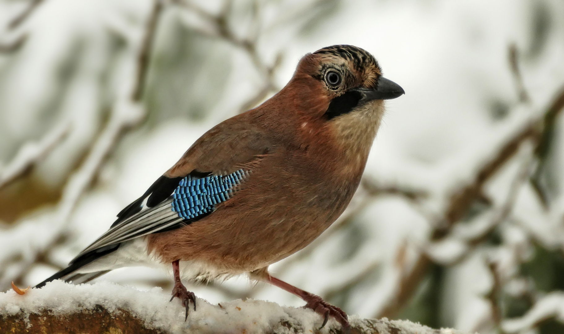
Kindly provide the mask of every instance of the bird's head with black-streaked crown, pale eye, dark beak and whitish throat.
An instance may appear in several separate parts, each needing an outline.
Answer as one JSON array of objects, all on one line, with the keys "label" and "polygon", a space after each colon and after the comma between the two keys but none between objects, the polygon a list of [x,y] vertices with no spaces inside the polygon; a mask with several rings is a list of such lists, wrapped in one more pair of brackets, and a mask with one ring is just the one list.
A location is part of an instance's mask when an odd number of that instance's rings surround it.
[{"label": "bird's head with black-streaked crown, pale eye, dark beak and whitish throat", "polygon": [[350,45],[329,46],[305,55],[283,91],[284,101],[293,101],[305,142],[337,144],[340,152],[362,152],[363,156],[380,126],[382,100],[404,93],[402,87],[382,76],[374,56]]}]

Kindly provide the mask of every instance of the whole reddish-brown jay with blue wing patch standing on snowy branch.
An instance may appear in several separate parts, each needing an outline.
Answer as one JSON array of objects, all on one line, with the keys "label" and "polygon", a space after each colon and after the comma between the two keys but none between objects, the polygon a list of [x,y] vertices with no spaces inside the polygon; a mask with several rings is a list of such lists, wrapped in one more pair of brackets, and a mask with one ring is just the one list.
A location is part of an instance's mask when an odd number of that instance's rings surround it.
[{"label": "whole reddish-brown jay with blue wing patch standing on snowy branch", "polygon": [[290,81],[257,108],[197,139],[177,163],[117,214],[67,268],[37,284],[88,282],[134,265],[172,266],[177,297],[196,310],[182,279],[247,274],[293,293],[350,328],[347,314],[273,277],[268,266],[301,250],[345,210],[359,186],[385,112],[405,92],[368,51],[334,45],[306,54]]}]

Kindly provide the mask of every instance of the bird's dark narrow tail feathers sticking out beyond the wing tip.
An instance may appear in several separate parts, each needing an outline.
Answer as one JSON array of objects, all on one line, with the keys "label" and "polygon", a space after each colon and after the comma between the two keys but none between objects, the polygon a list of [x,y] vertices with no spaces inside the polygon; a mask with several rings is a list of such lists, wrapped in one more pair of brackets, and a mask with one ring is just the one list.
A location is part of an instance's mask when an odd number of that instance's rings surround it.
[{"label": "bird's dark narrow tail feathers sticking out beyond the wing tip", "polygon": [[78,269],[81,269],[83,266],[90,264],[91,262],[94,262],[95,260],[98,260],[101,257],[116,251],[118,247],[120,247],[119,243],[110,246],[105,246],[99,248],[98,250],[88,252],[85,255],[79,257],[78,259],[70,262],[67,268],[58,271],[50,278],[47,278],[43,282],[37,284],[35,287],[41,288],[45,286],[45,284],[55,279],[62,279],[65,282],[72,282],[73,284],[81,284],[81,283],[89,282],[89,280],[95,279],[96,277],[99,277],[110,270],[94,271],[93,273],[76,273],[76,271]]}]

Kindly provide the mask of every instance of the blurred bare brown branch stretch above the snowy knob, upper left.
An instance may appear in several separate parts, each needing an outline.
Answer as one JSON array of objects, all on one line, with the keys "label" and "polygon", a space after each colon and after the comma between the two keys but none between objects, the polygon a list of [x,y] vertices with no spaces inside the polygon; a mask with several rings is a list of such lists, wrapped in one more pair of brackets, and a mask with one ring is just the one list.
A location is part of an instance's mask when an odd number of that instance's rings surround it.
[{"label": "blurred bare brown branch stretch above the snowy knob, upper left", "polygon": [[133,88],[133,93],[131,94],[131,100],[135,102],[139,102],[143,97],[145,83],[147,81],[147,72],[149,64],[151,63],[151,51],[153,42],[155,41],[158,21],[160,20],[163,7],[164,5],[162,3],[162,0],[155,0],[153,2],[151,14],[149,15],[149,18],[147,20],[147,28],[145,29],[143,41],[141,43],[137,57],[137,75],[135,87]]}]

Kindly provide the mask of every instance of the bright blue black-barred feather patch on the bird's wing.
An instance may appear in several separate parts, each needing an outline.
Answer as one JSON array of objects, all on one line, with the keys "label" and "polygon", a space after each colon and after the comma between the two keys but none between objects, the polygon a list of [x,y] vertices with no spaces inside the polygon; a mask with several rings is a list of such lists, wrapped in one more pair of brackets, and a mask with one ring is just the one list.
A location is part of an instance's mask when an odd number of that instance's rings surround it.
[{"label": "bright blue black-barred feather patch on the bird's wing", "polygon": [[202,178],[188,175],[180,180],[173,193],[173,211],[183,219],[192,219],[213,212],[215,204],[227,201],[235,194],[235,186],[249,175],[250,171],[238,170],[230,175],[210,175]]}]

